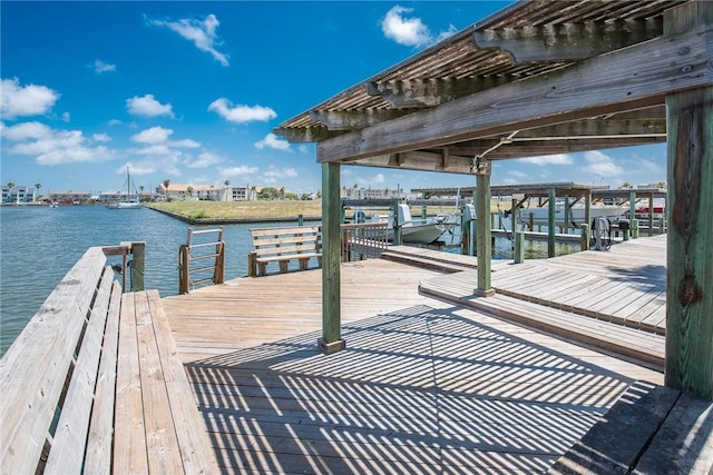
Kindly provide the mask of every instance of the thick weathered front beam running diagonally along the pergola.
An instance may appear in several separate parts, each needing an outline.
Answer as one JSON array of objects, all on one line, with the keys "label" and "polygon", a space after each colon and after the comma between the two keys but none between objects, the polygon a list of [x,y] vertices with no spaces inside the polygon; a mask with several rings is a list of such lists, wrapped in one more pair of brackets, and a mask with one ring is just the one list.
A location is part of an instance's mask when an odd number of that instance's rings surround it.
[{"label": "thick weathered front beam running diagonally along the pergola", "polygon": [[318,144],[318,161],[356,160],[660,106],[713,82],[707,27],[507,83]]}]

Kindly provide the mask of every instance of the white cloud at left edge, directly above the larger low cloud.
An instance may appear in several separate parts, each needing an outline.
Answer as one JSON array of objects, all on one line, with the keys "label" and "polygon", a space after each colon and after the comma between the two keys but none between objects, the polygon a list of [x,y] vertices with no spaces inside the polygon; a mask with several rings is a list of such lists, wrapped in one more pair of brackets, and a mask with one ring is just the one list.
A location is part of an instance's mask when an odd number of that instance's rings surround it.
[{"label": "white cloud at left edge, directly above the larger low cloud", "polygon": [[20,86],[17,78],[0,82],[0,115],[3,119],[37,116],[49,111],[60,98],[45,86]]}]

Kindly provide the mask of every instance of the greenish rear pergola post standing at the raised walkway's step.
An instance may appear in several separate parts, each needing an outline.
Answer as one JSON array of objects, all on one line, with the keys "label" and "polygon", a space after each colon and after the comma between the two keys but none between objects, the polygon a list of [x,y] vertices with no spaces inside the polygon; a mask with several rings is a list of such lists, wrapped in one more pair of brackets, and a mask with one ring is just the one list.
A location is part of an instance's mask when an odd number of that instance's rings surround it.
[{"label": "greenish rear pergola post standing at the raised walkway's step", "polygon": [[478,247],[478,288],[475,295],[488,297],[495,295],[490,284],[492,244],[490,238],[490,162],[479,167],[476,185],[476,246]]}]

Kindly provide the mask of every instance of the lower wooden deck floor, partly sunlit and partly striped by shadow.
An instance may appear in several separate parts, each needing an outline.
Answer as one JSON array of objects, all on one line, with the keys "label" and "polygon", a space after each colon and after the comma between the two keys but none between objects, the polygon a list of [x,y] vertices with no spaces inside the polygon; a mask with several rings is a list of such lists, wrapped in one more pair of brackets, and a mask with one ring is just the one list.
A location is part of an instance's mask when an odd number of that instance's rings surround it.
[{"label": "lower wooden deck floor, partly sunlit and partly striped by shadow", "polygon": [[319,269],[164,298],[221,468],[544,473],[634,380],[662,384],[660,372],[419,294],[461,274],[344,264],[346,350],[330,356],[316,347]]}]

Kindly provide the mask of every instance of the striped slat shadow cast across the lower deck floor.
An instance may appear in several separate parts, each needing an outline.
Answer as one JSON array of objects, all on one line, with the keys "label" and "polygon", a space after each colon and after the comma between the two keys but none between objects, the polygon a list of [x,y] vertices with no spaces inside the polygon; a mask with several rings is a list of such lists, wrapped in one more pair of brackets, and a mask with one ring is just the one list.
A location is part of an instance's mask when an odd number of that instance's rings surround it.
[{"label": "striped slat shadow cast across the lower deck floor", "polygon": [[543,473],[658,376],[514,329],[421,305],[344,325],[340,354],[312,331],[187,373],[218,464],[260,474]]}]

